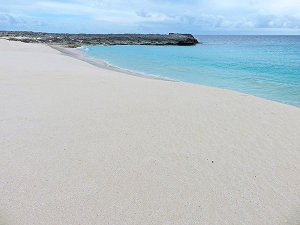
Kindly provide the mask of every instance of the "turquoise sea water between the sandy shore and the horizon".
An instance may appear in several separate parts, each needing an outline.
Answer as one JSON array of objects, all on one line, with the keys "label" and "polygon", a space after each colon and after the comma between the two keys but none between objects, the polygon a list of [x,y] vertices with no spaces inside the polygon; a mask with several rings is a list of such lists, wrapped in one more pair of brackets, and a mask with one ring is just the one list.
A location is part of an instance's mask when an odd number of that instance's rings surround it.
[{"label": "turquoise sea water between the sandy shore and the horizon", "polygon": [[191,46],[82,46],[86,56],[148,75],[300,107],[300,36],[194,35]]}]

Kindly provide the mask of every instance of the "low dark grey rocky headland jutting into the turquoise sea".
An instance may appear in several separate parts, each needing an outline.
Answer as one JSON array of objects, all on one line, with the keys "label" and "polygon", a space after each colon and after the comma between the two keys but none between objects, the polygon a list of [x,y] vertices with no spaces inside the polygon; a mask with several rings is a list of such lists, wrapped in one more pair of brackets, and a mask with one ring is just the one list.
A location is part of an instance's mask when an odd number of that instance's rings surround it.
[{"label": "low dark grey rocky headland jutting into the turquoise sea", "polygon": [[0,31],[0,37],[8,40],[17,40],[29,43],[59,44],[67,47],[97,44],[192,45],[199,43],[198,40],[189,33],[71,34],[31,31]]}]

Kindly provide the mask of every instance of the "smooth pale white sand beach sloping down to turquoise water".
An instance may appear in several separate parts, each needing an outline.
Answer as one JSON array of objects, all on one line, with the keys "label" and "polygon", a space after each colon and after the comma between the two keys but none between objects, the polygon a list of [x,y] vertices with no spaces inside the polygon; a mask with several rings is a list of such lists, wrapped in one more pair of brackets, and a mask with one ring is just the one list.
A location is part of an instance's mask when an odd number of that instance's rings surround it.
[{"label": "smooth pale white sand beach sloping down to turquoise water", "polygon": [[0,224],[300,223],[300,108],[0,39]]}]

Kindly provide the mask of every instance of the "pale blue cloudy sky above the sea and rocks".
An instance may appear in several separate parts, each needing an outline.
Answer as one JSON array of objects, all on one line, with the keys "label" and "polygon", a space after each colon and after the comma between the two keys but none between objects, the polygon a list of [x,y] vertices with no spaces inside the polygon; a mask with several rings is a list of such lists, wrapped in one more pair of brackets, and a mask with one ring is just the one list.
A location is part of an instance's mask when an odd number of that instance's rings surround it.
[{"label": "pale blue cloudy sky above the sea and rocks", "polygon": [[0,0],[0,30],[300,35],[300,0]]}]

